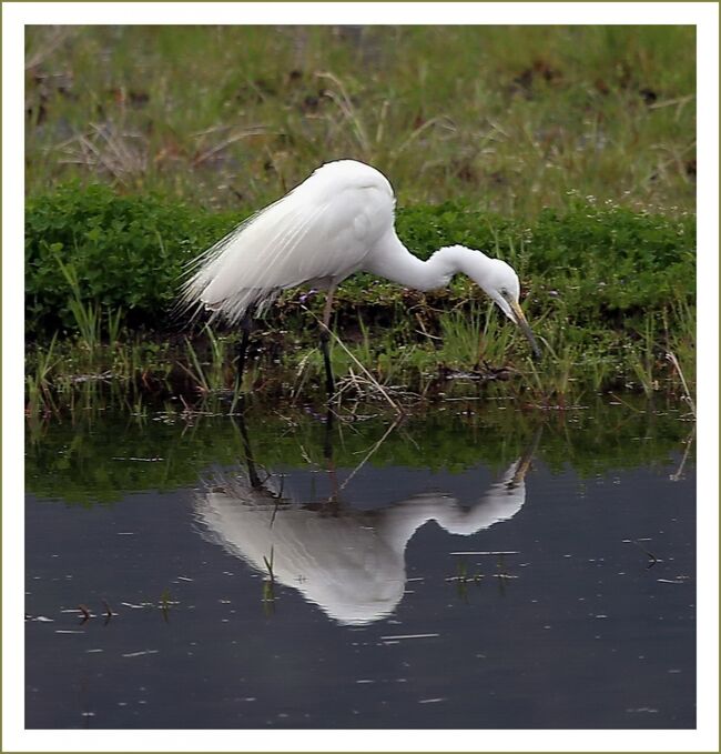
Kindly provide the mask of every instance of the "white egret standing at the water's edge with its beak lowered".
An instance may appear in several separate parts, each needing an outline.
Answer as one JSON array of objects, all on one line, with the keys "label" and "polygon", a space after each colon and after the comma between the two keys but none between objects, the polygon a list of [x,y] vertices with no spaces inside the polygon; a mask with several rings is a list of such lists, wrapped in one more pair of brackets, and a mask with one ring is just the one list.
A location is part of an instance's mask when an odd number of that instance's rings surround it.
[{"label": "white egret standing at the water's edge with its beak lowered", "polygon": [[445,288],[463,272],[521,329],[534,354],[540,355],[518,303],[518,275],[509,264],[461,245],[444,247],[423,261],[398,239],[394,211],[393,189],[378,170],[354,160],[328,162],[201,254],[183,286],[182,301],[211,310],[214,318],[242,323],[242,374],[251,316],[262,313],[284,289],[326,289],[321,344],[331,394],[328,326],[333,294],[342,280],[364,271],[430,291]]}]

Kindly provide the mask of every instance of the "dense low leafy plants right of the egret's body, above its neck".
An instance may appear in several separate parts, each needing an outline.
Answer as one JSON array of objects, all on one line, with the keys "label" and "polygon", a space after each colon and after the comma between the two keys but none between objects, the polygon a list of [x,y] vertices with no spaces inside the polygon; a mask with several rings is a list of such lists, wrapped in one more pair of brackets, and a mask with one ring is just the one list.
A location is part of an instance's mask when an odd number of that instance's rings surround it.
[{"label": "dense low leafy plants right of the egret's body, above its neck", "polygon": [[[426,259],[461,243],[512,264],[531,310],[567,308],[577,324],[616,322],[695,290],[695,218],[633,212],[577,200],[544,210],[532,227],[444,203],[398,213],[398,234]],[[536,301],[534,301],[536,299]]]}]

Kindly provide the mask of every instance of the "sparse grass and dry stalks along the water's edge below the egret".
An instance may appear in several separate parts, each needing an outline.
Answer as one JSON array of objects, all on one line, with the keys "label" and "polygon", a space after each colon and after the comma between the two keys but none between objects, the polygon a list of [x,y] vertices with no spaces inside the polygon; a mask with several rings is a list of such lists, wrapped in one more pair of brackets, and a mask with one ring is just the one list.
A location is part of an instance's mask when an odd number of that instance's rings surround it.
[{"label": "sparse grass and dry stalks along the water's edge below the egret", "polygon": [[[659,318],[650,315],[639,331],[575,330],[541,319],[539,363],[510,322],[474,302],[441,313],[433,338],[426,330],[408,340],[404,320],[393,328],[364,325],[355,340],[332,341],[339,405],[392,402],[417,411],[428,402],[471,395],[562,410],[602,392],[631,391],[674,395],[693,406],[694,318],[692,309],[682,309],[688,319],[668,340],[652,330]],[[242,396],[267,406],[322,404],[324,366],[316,338],[313,330],[302,336],[257,331],[241,385],[234,365],[237,334],[210,328],[176,345],[135,339],[88,351],[82,338],[35,344],[27,353],[27,414],[35,422],[49,415],[75,421],[82,412],[120,410],[142,420],[164,408],[193,418],[233,414],[242,410]]]}]

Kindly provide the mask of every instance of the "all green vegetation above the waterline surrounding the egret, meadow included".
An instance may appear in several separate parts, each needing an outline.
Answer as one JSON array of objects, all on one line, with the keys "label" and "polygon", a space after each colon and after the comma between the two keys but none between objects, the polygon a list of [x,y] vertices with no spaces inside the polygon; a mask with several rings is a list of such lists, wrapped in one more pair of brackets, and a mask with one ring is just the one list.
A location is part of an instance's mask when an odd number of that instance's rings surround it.
[{"label": "all green vegetation above the waterline surrounding the egret, meadow included", "polygon": [[400,402],[417,398],[399,385],[451,394],[459,373],[536,405],[692,399],[694,41],[692,27],[29,27],[28,415],[312,393],[322,294],[282,296],[242,385],[237,334],[174,303],[187,261],[338,158],[392,178],[419,257],[463,243],[510,262],[546,352],[531,364],[467,280],[423,295],[356,275],[334,321],[343,400],[373,392],[357,362]]}]

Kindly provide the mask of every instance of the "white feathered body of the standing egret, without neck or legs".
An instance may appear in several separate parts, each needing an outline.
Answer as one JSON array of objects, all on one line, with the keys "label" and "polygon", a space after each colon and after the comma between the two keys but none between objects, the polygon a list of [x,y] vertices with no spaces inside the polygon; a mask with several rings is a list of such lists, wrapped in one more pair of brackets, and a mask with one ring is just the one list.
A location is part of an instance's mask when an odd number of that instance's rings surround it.
[{"label": "white feathered body of the standing egret, without neck or legs", "polygon": [[331,288],[362,269],[393,227],[394,205],[390,184],[374,168],[327,163],[196,260],[183,298],[237,322],[283,289]]}]

